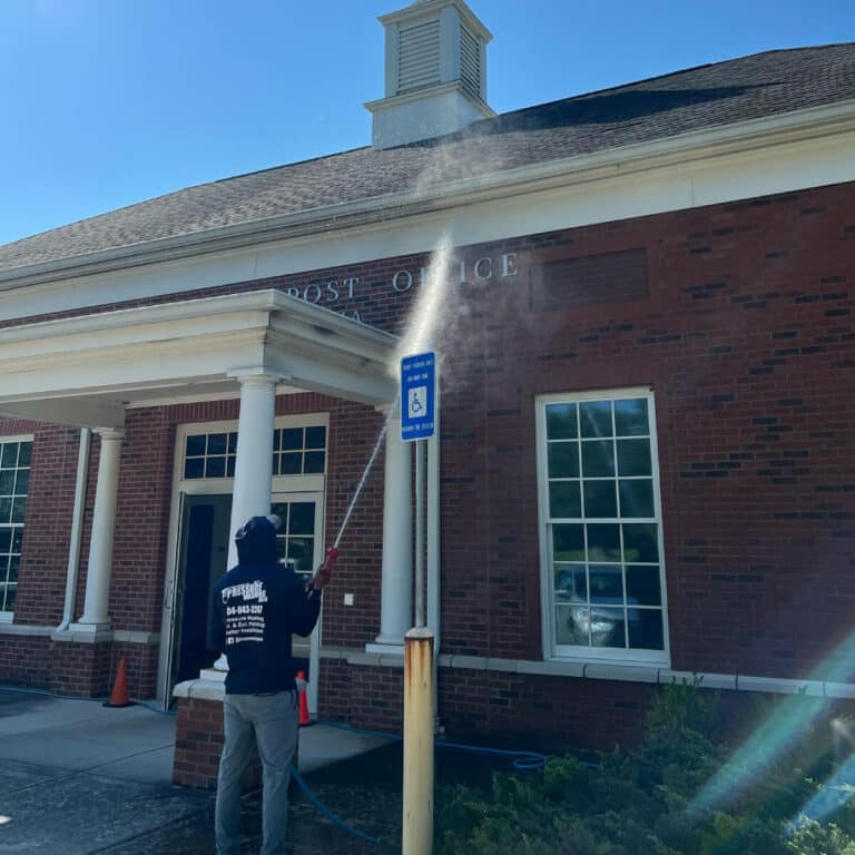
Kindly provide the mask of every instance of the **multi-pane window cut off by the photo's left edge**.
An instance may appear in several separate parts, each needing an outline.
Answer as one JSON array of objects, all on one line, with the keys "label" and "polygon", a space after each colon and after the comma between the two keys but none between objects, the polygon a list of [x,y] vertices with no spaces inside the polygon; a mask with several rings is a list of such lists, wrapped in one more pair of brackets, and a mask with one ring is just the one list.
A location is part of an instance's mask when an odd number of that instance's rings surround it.
[{"label": "multi-pane window cut off by the photo's left edge", "polygon": [[0,613],[14,611],[31,453],[30,440],[0,438]]}]

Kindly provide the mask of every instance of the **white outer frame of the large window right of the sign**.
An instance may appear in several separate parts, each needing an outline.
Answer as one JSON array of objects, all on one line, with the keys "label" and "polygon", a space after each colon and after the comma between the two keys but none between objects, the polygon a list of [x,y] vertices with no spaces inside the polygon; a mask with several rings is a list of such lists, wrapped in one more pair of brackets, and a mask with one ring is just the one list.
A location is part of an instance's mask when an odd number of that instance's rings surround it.
[{"label": "white outer frame of the large window right of the sign", "polygon": [[[581,403],[586,401],[616,401],[627,397],[645,397],[648,402],[650,428],[650,463],[659,546],[659,584],[662,610],[662,650],[599,648],[587,646],[559,646],[556,642],[554,572],[552,560],[552,523],[549,515],[549,478],[547,470],[547,405]],[[615,665],[661,665],[670,667],[670,640],[668,633],[668,599],[662,538],[662,505],[659,483],[659,450],[657,446],[656,400],[649,386],[631,386],[586,392],[568,392],[538,395],[535,406],[537,468],[538,468],[538,528],[540,540],[540,592],[541,630],[544,660],[612,662]],[[580,473],[581,476],[581,473]],[[616,521],[620,518],[616,517]]]}]

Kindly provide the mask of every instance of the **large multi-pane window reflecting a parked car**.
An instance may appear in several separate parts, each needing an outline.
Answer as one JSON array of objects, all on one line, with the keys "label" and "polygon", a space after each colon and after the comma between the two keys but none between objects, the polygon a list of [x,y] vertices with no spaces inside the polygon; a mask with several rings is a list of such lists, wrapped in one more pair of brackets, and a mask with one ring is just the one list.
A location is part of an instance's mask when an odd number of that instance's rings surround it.
[{"label": "large multi-pane window reflecting a parked car", "polygon": [[553,652],[662,660],[652,395],[564,395],[538,416]]}]

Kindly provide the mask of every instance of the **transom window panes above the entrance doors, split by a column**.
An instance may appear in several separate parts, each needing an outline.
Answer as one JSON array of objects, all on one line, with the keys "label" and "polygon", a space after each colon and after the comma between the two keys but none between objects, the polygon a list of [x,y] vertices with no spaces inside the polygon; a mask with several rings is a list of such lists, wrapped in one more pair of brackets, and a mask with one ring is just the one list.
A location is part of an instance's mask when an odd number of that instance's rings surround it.
[{"label": "transom window panes above the entrance doors, split by a column", "polygon": [[[237,432],[193,433],[185,440],[184,478],[234,478]],[[273,474],[313,475],[326,470],[326,428],[277,428],[273,432]]]}]

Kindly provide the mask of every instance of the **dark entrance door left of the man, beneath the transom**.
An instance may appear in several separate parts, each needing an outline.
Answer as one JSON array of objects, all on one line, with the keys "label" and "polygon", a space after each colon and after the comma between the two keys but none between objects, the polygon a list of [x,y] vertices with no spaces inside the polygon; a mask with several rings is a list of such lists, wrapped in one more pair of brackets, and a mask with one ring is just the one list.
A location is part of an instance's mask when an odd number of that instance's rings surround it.
[{"label": "dark entrance door left of the man, beneath the transom", "polygon": [[226,572],[230,495],[184,495],[171,685],[194,680],[218,653],[207,647],[212,591]]}]

